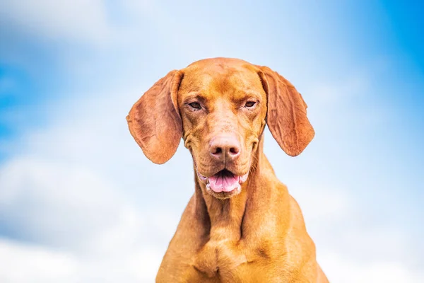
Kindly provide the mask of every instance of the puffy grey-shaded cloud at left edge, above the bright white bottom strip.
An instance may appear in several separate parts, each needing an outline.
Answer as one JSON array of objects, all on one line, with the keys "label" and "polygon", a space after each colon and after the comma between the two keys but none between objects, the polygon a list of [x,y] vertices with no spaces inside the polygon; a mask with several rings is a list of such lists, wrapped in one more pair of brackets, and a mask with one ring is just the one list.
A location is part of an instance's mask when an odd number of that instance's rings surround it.
[{"label": "puffy grey-shaded cloud at left edge, above the bright white bottom strip", "polygon": [[139,228],[131,227],[136,212],[107,178],[81,165],[16,158],[0,171],[0,187],[4,221],[35,241],[86,249],[110,227],[133,228],[122,229],[128,236]]}]

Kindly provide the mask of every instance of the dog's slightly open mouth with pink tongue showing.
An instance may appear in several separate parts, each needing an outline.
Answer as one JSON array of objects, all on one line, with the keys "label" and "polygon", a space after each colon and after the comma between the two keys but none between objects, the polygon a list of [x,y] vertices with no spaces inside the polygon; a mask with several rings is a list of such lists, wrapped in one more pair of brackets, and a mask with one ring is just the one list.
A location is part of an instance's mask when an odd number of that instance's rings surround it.
[{"label": "dog's slightly open mouth with pink tongue showing", "polygon": [[213,192],[232,192],[233,190],[240,190],[242,183],[245,183],[249,173],[238,176],[224,169],[210,177],[201,175],[199,171],[197,171],[197,175],[206,184],[206,188],[213,190]]}]

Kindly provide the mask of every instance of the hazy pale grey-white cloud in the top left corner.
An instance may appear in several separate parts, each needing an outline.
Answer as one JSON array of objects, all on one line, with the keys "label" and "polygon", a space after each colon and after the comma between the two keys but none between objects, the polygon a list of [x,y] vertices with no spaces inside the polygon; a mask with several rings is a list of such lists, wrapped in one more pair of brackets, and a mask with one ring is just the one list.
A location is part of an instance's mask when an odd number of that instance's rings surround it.
[{"label": "hazy pale grey-white cloud in the top left corner", "polygon": [[0,16],[29,33],[58,39],[103,42],[112,28],[101,0],[1,1]]}]

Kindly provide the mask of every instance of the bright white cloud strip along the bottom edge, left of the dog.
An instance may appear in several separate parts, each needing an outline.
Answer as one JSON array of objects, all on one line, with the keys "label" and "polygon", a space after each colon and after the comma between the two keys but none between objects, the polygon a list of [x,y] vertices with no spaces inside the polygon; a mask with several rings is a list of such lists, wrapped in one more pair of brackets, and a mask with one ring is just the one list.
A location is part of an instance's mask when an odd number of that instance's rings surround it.
[{"label": "bright white cloud strip along the bottom edge, left of the dog", "polygon": [[45,246],[0,238],[0,281],[26,282],[153,282],[161,253],[134,249],[118,258],[83,256]]}]

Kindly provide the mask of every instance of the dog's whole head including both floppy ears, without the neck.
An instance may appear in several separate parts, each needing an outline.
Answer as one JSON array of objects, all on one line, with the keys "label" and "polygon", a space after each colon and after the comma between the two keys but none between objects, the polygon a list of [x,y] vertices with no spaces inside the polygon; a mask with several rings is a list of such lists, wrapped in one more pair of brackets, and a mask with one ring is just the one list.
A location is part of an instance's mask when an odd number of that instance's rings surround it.
[{"label": "dog's whole head including both floppy ears, without the neck", "polygon": [[218,198],[240,192],[268,125],[281,149],[297,156],[314,137],[307,105],[268,67],[239,59],[204,59],[170,71],[126,117],[131,135],[154,163],[165,163],[181,137],[197,176]]}]

